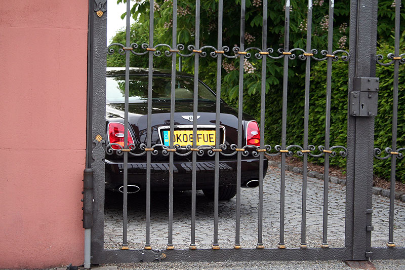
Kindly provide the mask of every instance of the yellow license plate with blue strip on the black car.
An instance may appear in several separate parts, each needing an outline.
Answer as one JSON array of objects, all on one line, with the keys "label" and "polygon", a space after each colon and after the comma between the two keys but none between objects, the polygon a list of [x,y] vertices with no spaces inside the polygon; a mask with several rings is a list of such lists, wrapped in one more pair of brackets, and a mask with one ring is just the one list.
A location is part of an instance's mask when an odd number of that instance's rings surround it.
[{"label": "yellow license plate with blue strip on the black car", "polygon": [[[193,144],[193,131],[192,130],[175,130],[174,131],[173,145],[179,144],[180,146]],[[215,145],[215,130],[197,130],[197,146],[199,145]],[[170,130],[163,131],[163,143],[169,146]]]}]

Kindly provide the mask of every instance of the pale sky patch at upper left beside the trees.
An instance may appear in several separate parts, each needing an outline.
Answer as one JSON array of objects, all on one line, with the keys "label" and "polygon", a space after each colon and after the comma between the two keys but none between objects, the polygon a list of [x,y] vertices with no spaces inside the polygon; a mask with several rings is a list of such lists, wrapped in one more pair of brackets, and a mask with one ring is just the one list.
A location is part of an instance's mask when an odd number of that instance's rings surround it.
[{"label": "pale sky patch at upper left beside the trees", "polygon": [[117,5],[116,0],[107,1],[107,45],[110,44],[110,40],[115,35],[116,31],[125,27],[126,19],[124,18],[124,20],[122,20],[121,15],[125,13],[126,6],[127,5],[124,3]]}]

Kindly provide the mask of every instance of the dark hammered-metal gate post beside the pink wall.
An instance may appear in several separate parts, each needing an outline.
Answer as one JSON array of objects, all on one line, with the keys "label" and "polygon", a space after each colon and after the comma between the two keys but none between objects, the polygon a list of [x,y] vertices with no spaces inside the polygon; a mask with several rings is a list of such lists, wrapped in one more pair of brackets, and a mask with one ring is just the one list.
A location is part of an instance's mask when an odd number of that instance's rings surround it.
[{"label": "dark hammered-metal gate post beside the pink wall", "polygon": [[[107,0],[89,0],[87,167],[93,169],[91,262],[104,249],[105,89]],[[90,265],[87,265],[90,266]]]}]

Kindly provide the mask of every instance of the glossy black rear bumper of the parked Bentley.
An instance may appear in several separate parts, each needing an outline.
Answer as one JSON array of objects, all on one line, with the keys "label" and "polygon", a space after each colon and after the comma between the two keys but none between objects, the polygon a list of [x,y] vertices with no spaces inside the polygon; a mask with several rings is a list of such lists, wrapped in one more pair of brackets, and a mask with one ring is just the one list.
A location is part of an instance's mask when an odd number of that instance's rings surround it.
[{"label": "glossy black rear bumper of the parked Bentley", "polygon": [[[118,190],[123,185],[124,164],[105,160],[106,177],[105,188]],[[241,160],[241,184],[259,179],[259,158]],[[263,175],[267,172],[268,161],[264,158]],[[219,185],[236,184],[237,162],[234,160],[219,161]],[[128,184],[137,185],[140,190],[146,190],[145,161],[128,163]],[[215,162],[198,161],[196,163],[196,189],[214,188]],[[173,186],[175,190],[191,190],[192,162],[173,163]],[[163,191],[169,188],[169,163],[150,163],[151,190]]]}]

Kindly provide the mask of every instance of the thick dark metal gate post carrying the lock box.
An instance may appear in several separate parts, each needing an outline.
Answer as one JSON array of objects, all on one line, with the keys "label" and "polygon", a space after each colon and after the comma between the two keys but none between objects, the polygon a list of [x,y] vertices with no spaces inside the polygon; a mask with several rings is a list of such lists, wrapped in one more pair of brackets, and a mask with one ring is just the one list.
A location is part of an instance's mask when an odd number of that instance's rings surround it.
[{"label": "thick dark metal gate post carrying the lock box", "polygon": [[[376,44],[377,1],[351,0],[348,110],[350,93],[358,90],[354,79],[375,76]],[[366,260],[371,255],[374,116],[358,115],[348,111],[345,245],[352,251],[349,259]]]}]

